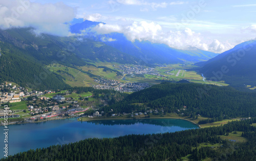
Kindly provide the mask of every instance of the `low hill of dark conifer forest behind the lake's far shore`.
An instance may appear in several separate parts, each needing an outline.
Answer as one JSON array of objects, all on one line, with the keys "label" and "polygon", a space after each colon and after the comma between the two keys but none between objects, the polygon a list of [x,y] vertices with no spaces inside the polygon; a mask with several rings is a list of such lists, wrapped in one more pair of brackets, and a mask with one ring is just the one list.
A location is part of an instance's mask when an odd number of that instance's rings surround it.
[{"label": "low hill of dark conifer forest behind the lake's far shore", "polygon": [[[127,96],[104,107],[113,113],[140,111],[145,107],[166,112],[200,114],[209,118],[256,117],[256,93],[238,91],[232,87],[194,83],[164,82]],[[178,112],[178,110],[180,112]]]}]

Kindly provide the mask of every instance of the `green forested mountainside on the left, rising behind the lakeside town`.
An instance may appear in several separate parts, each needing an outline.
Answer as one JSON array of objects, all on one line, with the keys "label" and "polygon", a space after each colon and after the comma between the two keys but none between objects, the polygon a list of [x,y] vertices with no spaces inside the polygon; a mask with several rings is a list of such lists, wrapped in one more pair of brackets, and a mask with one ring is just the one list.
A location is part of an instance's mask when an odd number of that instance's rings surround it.
[{"label": "green forested mountainside on the left, rising behind the lakeside town", "polygon": [[41,90],[68,87],[64,78],[46,68],[52,63],[76,67],[97,61],[139,62],[138,58],[103,42],[48,34],[37,36],[32,28],[0,30],[0,46],[0,82],[12,81]]}]

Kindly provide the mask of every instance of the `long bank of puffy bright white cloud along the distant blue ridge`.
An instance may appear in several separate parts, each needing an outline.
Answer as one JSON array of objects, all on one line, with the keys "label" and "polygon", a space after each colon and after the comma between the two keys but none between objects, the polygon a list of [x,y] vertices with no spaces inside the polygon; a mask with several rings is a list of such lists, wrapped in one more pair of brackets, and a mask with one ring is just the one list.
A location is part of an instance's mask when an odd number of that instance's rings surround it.
[{"label": "long bank of puffy bright white cloud along the distant blue ridge", "polygon": [[99,34],[123,33],[132,42],[135,40],[145,40],[152,43],[167,44],[171,48],[181,50],[198,48],[205,51],[222,53],[233,48],[227,42],[221,43],[219,40],[206,40],[200,33],[196,33],[189,28],[185,28],[182,31],[164,32],[162,27],[155,22],[135,21],[129,26],[99,24],[93,30]]}]

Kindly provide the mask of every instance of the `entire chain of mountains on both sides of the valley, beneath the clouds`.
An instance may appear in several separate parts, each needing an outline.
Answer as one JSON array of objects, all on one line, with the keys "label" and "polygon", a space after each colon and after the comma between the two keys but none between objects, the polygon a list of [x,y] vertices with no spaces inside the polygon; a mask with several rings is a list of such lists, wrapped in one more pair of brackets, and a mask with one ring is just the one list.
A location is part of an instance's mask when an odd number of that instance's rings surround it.
[{"label": "entire chain of mountains on both sides of the valley, beneath the clouds", "polygon": [[[77,68],[84,65],[97,67],[97,62],[152,65],[193,61],[198,62],[196,65],[200,68],[197,70],[209,80],[215,78],[237,86],[256,86],[253,71],[256,67],[253,62],[255,41],[244,42],[222,54],[195,48],[184,51],[150,41],[132,42],[121,33],[100,35],[92,30],[100,23],[74,19],[69,22],[70,31],[80,34],[69,37],[36,35],[33,28],[0,30],[0,81],[13,81],[38,89],[61,89],[66,86],[65,78],[47,70],[47,65],[58,63]],[[41,71],[49,76],[38,79],[44,74]],[[40,83],[35,83],[38,81]]]}]

